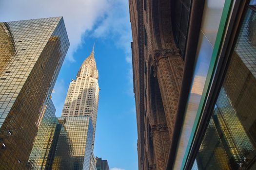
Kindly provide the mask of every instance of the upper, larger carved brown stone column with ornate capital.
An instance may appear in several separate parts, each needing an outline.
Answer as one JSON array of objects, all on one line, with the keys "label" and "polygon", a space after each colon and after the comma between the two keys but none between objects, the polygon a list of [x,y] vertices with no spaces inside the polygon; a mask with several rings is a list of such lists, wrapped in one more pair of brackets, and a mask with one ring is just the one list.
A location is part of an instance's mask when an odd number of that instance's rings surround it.
[{"label": "upper, larger carved brown stone column with ornate capital", "polygon": [[183,67],[177,48],[155,51],[154,76],[158,78],[170,138],[177,114]]}]

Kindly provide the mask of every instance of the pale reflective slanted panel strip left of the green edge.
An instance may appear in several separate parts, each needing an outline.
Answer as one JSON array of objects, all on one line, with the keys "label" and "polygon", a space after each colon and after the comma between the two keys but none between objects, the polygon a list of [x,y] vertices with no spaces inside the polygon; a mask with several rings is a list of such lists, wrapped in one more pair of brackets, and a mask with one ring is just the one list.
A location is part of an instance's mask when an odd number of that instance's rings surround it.
[{"label": "pale reflective slanted panel strip left of the green edge", "polygon": [[195,57],[194,75],[184,113],[184,124],[182,125],[174,169],[180,169],[182,166],[183,158],[186,157],[186,148],[189,148],[191,144],[191,134],[194,134],[193,125],[198,121],[197,112],[200,111],[200,102],[204,99],[203,90],[213,57],[224,2],[225,0],[218,0],[217,3],[216,0],[205,0]]}]

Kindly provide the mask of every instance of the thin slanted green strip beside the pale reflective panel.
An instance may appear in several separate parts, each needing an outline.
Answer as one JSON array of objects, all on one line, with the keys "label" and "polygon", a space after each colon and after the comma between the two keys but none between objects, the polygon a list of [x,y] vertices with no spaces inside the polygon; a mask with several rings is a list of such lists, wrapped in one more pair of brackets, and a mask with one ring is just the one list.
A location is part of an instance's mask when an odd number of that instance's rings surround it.
[{"label": "thin slanted green strip beside the pale reflective panel", "polygon": [[193,128],[192,128],[192,132],[191,132],[191,135],[190,135],[190,138],[189,138],[189,141],[188,141],[186,152],[184,154],[182,164],[181,164],[181,167],[180,167],[181,170],[184,169],[185,163],[187,162],[188,153],[190,152],[192,141],[194,139],[195,132],[197,130],[198,122],[199,122],[199,119],[201,118],[203,107],[204,107],[205,102],[206,102],[206,96],[208,96],[208,93],[209,93],[209,90],[210,90],[210,84],[212,83],[212,80],[213,80],[213,72],[216,68],[217,56],[218,56],[218,53],[220,51],[220,46],[221,46],[222,39],[223,39],[223,36],[224,36],[224,31],[225,31],[226,24],[227,24],[227,18],[229,16],[229,12],[230,12],[230,9],[231,9],[232,2],[233,2],[233,0],[226,0],[225,3],[224,3],[224,7],[223,7],[222,15],[221,15],[221,18],[220,18],[219,28],[218,28],[218,32],[217,32],[217,37],[216,37],[216,41],[215,41],[215,45],[214,45],[214,49],[213,49],[213,54],[212,54],[210,66],[209,66],[209,69],[208,69],[208,72],[207,72],[205,85],[204,85],[204,88],[203,88],[203,93],[202,93],[201,100],[199,102],[195,122],[194,122],[194,125],[193,125]]}]

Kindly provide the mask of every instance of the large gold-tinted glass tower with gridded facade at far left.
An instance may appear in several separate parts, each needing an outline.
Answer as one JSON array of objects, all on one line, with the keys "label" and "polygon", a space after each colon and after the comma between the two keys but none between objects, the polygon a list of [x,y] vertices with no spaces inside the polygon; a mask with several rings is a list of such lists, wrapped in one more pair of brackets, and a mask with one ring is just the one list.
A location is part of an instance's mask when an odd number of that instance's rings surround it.
[{"label": "large gold-tinted glass tower with gridded facade at far left", "polygon": [[62,17],[0,23],[0,169],[24,170],[69,47]]}]

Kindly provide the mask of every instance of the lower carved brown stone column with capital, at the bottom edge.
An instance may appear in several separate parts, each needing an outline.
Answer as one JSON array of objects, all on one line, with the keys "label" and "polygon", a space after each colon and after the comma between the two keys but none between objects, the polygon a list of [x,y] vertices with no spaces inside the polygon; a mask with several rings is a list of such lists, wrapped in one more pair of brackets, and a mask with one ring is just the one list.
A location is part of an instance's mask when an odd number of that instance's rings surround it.
[{"label": "lower carved brown stone column with capital, at the bottom edge", "polygon": [[154,143],[156,170],[165,170],[170,149],[170,139],[166,124],[153,125],[151,137]]}]

